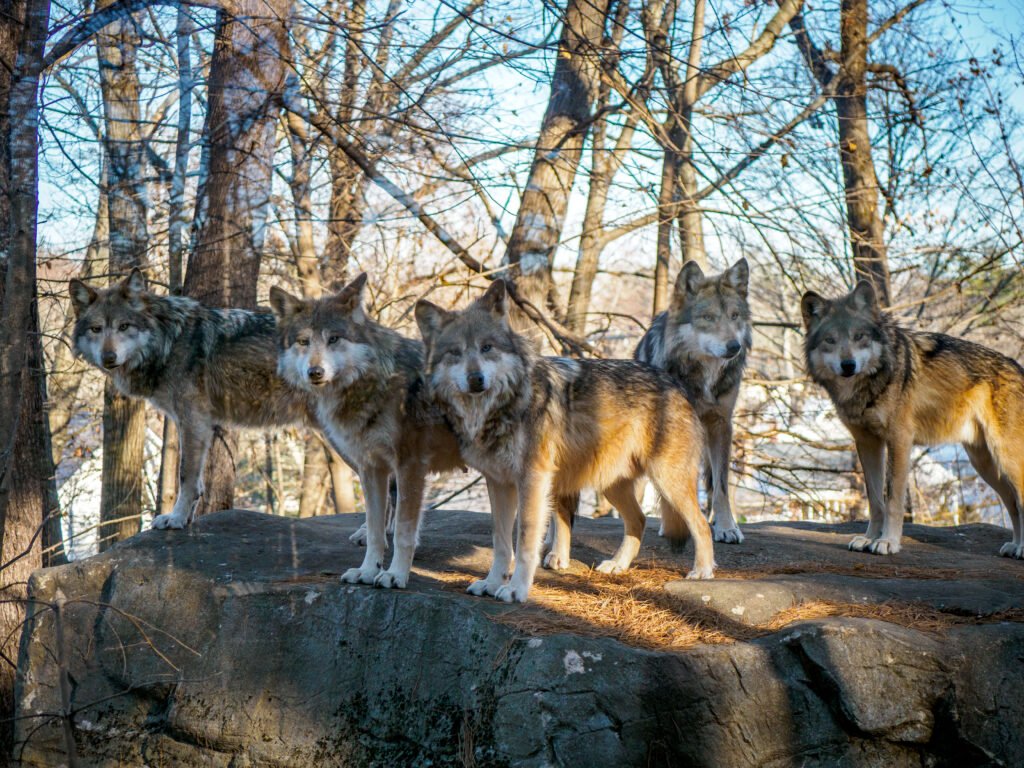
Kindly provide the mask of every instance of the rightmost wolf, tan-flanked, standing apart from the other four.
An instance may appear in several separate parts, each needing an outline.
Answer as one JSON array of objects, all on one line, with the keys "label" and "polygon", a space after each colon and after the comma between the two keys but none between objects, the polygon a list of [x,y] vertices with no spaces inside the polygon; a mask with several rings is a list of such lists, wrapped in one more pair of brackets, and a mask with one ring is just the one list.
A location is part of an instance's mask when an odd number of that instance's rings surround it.
[{"label": "rightmost wolf, tan-flanked, standing apart from the other four", "polygon": [[1024,558],[1024,369],[980,344],[901,328],[866,281],[838,299],[808,291],[801,311],[807,370],[864,470],[870,520],[850,549],[899,552],[911,449],[961,442],[1013,521],[999,554]]}]

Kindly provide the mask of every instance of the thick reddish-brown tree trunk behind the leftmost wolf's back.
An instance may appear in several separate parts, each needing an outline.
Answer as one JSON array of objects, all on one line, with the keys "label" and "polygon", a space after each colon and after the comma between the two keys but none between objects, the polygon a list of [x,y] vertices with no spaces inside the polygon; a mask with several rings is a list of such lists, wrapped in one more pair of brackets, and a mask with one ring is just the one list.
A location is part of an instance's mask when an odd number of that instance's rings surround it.
[{"label": "thick reddish-brown tree trunk behind the leftmost wolf's back", "polygon": [[[236,0],[218,12],[184,293],[212,306],[255,308],[281,94],[291,60],[288,0]],[[238,442],[218,429],[198,513],[233,503]]]}]

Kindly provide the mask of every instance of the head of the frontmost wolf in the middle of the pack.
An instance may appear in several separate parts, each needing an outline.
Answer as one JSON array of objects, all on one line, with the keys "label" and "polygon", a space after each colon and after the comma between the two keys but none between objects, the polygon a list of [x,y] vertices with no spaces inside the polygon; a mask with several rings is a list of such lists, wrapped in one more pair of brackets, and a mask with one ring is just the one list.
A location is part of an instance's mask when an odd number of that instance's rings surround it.
[{"label": "head of the frontmost wolf in the middle of the pack", "polygon": [[427,345],[427,380],[441,399],[490,400],[513,390],[525,375],[522,342],[509,327],[502,280],[461,312],[421,299],[416,323]]}]

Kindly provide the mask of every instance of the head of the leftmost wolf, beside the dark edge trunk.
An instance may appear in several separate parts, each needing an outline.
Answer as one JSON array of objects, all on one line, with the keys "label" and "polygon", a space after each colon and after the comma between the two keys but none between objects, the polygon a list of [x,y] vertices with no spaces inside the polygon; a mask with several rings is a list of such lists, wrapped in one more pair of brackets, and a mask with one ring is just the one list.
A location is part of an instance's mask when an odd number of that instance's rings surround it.
[{"label": "head of the leftmost wolf, beside the dark edge trunk", "polygon": [[146,310],[153,296],[142,272],[132,269],[110,288],[73,280],[68,289],[75,310],[76,354],[104,371],[131,369],[145,358],[153,334]]}]

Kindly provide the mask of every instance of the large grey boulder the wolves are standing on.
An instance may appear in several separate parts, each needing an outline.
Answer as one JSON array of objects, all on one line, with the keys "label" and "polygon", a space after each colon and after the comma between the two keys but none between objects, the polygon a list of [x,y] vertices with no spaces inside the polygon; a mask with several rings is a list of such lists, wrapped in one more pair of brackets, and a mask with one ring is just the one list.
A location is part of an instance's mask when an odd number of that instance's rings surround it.
[{"label": "large grey boulder the wolves are standing on", "polygon": [[[67,764],[69,739],[94,766],[1024,761],[1024,624],[924,632],[830,617],[682,652],[530,636],[500,620],[536,607],[435,578],[485,569],[486,516],[431,513],[402,592],[338,582],[361,557],[347,540],[357,522],[232,510],[36,573],[19,658],[24,764]],[[889,560],[846,552],[851,531],[748,526],[718,559],[726,575],[765,579],[668,589],[745,638],[814,599],[920,599],[974,615],[1024,605],[1024,563],[994,556],[1007,531],[910,526]],[[573,556],[591,565],[620,536],[617,521],[581,521]],[[656,537],[647,545],[670,557]],[[689,559],[676,557],[680,571]],[[817,592],[816,564],[830,568]]]}]

